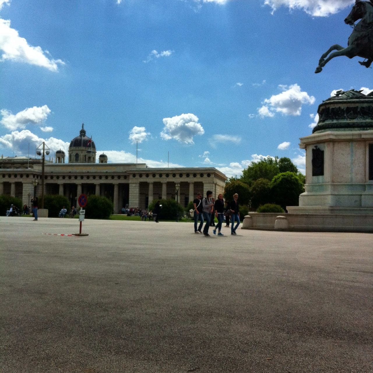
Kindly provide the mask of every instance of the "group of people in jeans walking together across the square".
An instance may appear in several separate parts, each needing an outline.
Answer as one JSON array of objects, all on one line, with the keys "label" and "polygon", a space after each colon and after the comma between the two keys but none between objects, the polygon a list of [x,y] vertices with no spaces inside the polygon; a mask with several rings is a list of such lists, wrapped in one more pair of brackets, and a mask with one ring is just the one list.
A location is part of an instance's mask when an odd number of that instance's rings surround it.
[{"label": "group of people in jeans walking together across the square", "polygon": [[[226,214],[226,219],[229,219],[231,216],[231,235],[236,235],[236,229],[240,224],[239,220],[239,208],[238,208],[238,194],[235,193],[233,195],[233,200],[227,204],[226,211],[224,211],[224,200],[223,195],[220,193],[217,197],[215,203],[211,199],[212,192],[208,190],[206,192],[206,197],[202,198],[202,194],[198,193],[197,198],[193,201],[194,207],[194,233],[203,233],[205,236],[209,235],[209,228],[211,219],[217,217],[217,225],[213,229],[213,233],[218,236],[223,236],[221,232],[222,224],[224,221],[224,215]],[[212,212],[215,211],[215,216],[212,215]],[[228,216],[228,217],[227,217]],[[198,219],[200,220],[200,224],[198,225]],[[206,220],[206,224],[203,228],[203,223]],[[236,225],[234,223],[236,222]],[[229,224],[227,223],[227,226]]]}]

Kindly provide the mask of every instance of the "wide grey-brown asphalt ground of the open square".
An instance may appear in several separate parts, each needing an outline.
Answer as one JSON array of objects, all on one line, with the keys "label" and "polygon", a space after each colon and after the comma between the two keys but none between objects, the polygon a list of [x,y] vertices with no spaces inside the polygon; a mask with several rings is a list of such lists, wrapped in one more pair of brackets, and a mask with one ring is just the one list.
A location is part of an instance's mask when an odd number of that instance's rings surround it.
[{"label": "wide grey-brown asphalt ground of the open square", "polygon": [[371,234],[0,227],[1,373],[373,372]]}]

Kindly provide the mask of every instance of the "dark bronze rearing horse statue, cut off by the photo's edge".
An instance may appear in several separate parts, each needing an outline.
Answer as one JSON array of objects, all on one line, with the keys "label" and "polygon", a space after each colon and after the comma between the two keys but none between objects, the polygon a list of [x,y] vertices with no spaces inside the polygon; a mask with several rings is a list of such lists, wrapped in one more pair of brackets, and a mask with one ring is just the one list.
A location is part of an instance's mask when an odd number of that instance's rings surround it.
[{"label": "dark bronze rearing horse statue, cut off by the photo's edge", "polygon": [[[358,19],[360,21],[355,25]],[[345,23],[354,29],[348,38],[348,47],[344,48],[338,44],[331,46],[321,56],[315,73],[320,72],[332,58],[338,56],[347,56],[348,58],[362,57],[367,61],[359,61],[359,63],[366,68],[369,68],[373,62],[373,0],[356,0],[350,14],[345,18]],[[329,55],[332,50],[336,50],[336,52]],[[327,57],[328,55],[329,57]]]}]

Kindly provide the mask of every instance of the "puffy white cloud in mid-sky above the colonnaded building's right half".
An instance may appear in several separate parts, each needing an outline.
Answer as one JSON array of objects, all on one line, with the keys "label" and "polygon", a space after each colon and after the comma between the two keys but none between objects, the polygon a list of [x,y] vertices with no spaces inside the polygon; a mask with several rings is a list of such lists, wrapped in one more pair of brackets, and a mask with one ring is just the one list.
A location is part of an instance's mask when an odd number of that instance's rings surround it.
[{"label": "puffy white cloud in mid-sky above the colonnaded building's right half", "polygon": [[163,118],[164,128],[160,133],[163,140],[175,139],[185,144],[194,144],[193,136],[203,135],[203,127],[194,114],[181,114],[172,118]]}]

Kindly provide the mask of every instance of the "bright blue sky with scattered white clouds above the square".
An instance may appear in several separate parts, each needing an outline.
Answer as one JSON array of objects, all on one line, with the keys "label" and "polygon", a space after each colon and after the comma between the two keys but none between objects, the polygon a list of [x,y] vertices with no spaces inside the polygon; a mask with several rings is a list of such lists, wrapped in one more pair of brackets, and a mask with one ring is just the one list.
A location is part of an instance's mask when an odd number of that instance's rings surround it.
[{"label": "bright blue sky with scattered white clouds above the square", "polygon": [[67,155],[84,123],[97,160],[230,177],[278,156],[304,173],[318,105],[373,86],[358,57],[314,73],[347,46],[353,3],[0,0],[0,154]]}]

